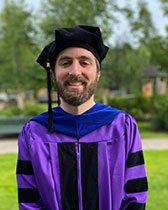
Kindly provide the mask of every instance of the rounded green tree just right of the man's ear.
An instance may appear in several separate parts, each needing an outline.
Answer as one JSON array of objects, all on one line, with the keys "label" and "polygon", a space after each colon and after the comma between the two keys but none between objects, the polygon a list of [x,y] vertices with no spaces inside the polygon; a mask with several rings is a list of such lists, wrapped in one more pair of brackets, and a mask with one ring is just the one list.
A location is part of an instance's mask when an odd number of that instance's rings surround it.
[{"label": "rounded green tree just right of the man's ear", "polygon": [[150,63],[151,54],[145,45],[137,49],[123,43],[110,50],[102,66],[101,86],[135,93],[141,88],[141,75]]}]

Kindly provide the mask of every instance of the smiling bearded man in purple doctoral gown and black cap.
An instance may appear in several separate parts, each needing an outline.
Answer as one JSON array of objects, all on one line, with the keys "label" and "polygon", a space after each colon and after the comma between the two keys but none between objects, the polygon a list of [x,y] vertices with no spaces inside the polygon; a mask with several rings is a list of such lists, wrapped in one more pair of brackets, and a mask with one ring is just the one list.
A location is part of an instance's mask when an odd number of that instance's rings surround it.
[{"label": "smiling bearded man in purple doctoral gown and black cap", "polygon": [[136,122],[94,101],[108,51],[100,29],[75,26],[55,35],[37,61],[48,74],[52,69],[61,104],[32,118],[19,135],[20,210],[145,209],[147,178]]}]

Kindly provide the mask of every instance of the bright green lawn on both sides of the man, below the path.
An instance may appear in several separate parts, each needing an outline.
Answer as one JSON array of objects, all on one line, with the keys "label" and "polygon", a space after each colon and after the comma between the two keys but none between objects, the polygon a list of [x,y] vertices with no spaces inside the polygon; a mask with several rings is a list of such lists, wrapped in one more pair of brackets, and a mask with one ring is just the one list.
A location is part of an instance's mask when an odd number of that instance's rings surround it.
[{"label": "bright green lawn on both sides of the man, below the path", "polygon": [[[149,183],[147,210],[168,207],[168,151],[145,151]],[[0,210],[17,210],[16,154],[0,155]]]}]

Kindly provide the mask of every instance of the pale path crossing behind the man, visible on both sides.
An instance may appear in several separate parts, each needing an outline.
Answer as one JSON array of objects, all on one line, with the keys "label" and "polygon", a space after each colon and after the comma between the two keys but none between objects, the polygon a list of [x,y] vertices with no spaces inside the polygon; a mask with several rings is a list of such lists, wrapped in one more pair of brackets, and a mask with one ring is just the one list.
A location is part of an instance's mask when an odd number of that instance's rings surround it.
[{"label": "pale path crossing behind the man, visible on both sides", "polygon": [[[142,139],[144,150],[168,150],[168,138]],[[0,138],[0,154],[16,153],[17,138]]]}]

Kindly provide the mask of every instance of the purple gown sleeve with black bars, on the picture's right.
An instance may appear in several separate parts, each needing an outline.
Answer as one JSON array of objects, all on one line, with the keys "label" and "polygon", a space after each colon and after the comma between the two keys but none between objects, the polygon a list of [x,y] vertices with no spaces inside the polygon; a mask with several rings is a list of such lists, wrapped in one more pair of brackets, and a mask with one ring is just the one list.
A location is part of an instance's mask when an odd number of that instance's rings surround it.
[{"label": "purple gown sleeve with black bars, on the picture's right", "polygon": [[142,144],[136,121],[128,114],[125,121],[125,145],[126,164],[121,210],[144,210],[148,182]]}]

